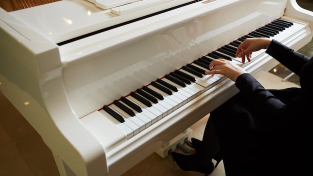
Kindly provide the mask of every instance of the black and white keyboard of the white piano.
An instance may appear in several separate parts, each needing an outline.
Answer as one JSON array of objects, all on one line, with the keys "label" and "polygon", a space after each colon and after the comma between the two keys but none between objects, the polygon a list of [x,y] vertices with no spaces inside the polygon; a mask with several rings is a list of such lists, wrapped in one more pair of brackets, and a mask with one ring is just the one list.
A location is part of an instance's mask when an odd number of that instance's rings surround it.
[{"label": "black and white keyboard of the white piano", "polygon": [[[115,140],[122,140],[124,135],[129,139],[224,80],[223,75],[204,74],[208,70],[211,60],[224,58],[232,60],[242,67],[249,64],[250,62],[242,63],[241,58],[235,58],[236,48],[245,38],[269,37],[283,42],[304,28],[305,25],[302,23],[276,19],[192,63],[173,70],[164,77],[151,81],[150,84],[104,105],[102,109],[95,112],[96,114],[89,114],[87,117],[81,118],[81,121],[88,121],[85,118],[97,118],[105,124],[113,123],[120,129],[120,131],[114,129],[114,137],[118,136],[117,133],[120,134],[120,139]],[[265,49],[253,52],[251,62],[263,54],[265,54]],[[99,112],[101,117],[98,116]],[[97,122],[100,123],[100,121]],[[86,125],[91,126],[91,124]],[[101,127],[92,126],[92,128],[91,130],[104,130]],[[102,132],[95,133],[103,134]]]}]

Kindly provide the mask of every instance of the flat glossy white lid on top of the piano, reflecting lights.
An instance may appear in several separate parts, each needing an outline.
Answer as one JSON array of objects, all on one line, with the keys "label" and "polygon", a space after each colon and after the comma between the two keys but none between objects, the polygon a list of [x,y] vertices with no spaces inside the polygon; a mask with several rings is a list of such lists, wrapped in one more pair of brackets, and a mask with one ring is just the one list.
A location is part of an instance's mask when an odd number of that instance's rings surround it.
[{"label": "flat glossy white lid on top of the piano, reflecting lights", "polygon": [[[107,27],[120,25],[133,19],[142,18],[182,4],[196,2],[197,0],[159,1],[158,3],[149,4],[143,9],[140,1],[131,3],[131,6],[126,4],[126,6],[136,10],[131,11],[130,9],[129,11],[128,7],[125,9],[126,13],[120,15],[115,13],[119,11],[121,6],[116,10],[103,9],[88,0],[60,0],[9,13],[52,42],[61,45],[64,41],[68,42],[67,40],[75,37],[80,38],[80,36],[92,34],[92,32]],[[111,11],[115,11],[115,13]]]}]

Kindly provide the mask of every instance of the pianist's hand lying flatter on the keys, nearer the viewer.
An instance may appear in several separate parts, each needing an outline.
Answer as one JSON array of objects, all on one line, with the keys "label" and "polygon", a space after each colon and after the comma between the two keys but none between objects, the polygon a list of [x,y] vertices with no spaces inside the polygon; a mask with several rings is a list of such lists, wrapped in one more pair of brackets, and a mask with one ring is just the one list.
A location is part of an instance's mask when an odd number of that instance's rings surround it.
[{"label": "pianist's hand lying flatter on the keys, nearer the viewer", "polygon": [[233,81],[236,81],[237,77],[240,74],[245,73],[246,71],[240,66],[236,65],[230,60],[218,58],[209,64],[210,71],[206,71],[205,74],[222,74]]}]

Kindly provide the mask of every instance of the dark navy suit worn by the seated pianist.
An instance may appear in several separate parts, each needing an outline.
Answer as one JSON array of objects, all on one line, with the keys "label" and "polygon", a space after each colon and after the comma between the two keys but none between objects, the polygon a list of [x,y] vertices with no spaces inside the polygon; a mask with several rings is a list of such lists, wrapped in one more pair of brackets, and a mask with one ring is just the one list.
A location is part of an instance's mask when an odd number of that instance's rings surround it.
[{"label": "dark navy suit worn by the seated pianist", "polygon": [[226,175],[313,175],[313,58],[276,40],[266,53],[299,75],[300,88],[268,90],[249,73],[238,76],[239,93],[208,120]]}]

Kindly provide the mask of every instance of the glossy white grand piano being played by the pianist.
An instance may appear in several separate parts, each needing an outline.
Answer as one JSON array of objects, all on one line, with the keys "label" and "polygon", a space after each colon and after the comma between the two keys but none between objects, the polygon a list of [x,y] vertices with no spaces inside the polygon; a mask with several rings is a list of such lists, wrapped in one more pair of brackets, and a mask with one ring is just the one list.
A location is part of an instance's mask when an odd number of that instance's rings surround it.
[{"label": "glossy white grand piano being played by the pianist", "polygon": [[264,50],[234,58],[244,37],[294,49],[312,38],[313,12],[295,0],[120,1],[0,9],[0,89],[61,175],[122,174],[235,94],[231,80],[201,74],[217,54],[255,77],[277,64]]}]

